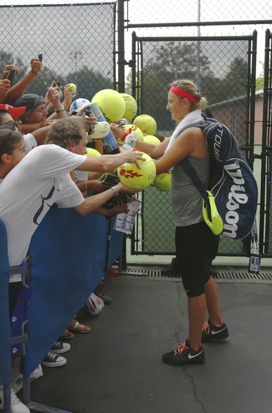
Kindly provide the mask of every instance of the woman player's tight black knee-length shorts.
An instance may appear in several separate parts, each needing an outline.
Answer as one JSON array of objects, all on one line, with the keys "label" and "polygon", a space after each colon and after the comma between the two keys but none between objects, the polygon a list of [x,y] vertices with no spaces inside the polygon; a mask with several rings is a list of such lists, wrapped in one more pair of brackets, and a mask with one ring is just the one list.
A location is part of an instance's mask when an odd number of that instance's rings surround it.
[{"label": "woman player's tight black knee-length shorts", "polygon": [[176,227],[177,259],[188,297],[204,294],[204,285],[210,278],[207,268],[209,231],[204,221]]}]

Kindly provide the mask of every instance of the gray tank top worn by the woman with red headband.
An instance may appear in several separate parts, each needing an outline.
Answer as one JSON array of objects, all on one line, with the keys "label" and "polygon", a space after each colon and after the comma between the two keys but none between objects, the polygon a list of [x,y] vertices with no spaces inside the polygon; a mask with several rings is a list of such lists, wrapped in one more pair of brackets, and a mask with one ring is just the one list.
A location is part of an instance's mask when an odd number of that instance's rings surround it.
[{"label": "gray tank top worn by the woman with red headband", "polygon": [[[209,182],[209,155],[206,158],[188,156],[203,187]],[[178,163],[171,169],[171,203],[175,226],[188,226],[203,221],[202,197],[192,180]]]}]

